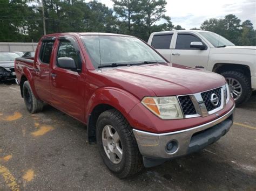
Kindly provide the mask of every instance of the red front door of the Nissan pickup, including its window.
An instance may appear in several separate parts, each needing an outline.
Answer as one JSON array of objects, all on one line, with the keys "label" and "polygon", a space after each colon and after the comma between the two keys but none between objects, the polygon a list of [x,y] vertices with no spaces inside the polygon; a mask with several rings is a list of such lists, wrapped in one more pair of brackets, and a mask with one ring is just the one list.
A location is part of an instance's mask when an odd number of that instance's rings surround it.
[{"label": "red front door of the Nissan pickup, including its window", "polygon": [[[50,74],[53,104],[59,110],[84,121],[85,63],[82,61],[76,38],[59,37],[56,52]],[[60,68],[57,59],[62,57],[74,59],[80,71]]]}]

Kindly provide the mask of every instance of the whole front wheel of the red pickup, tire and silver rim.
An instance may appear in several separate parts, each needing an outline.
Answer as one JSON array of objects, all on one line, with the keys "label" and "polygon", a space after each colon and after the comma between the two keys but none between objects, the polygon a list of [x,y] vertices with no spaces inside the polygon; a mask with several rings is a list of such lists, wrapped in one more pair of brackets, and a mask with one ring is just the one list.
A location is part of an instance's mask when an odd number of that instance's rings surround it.
[{"label": "whole front wheel of the red pickup, tire and silver rim", "polygon": [[100,114],[96,136],[100,155],[115,175],[127,178],[141,171],[142,155],[131,126],[120,112],[111,109]]}]

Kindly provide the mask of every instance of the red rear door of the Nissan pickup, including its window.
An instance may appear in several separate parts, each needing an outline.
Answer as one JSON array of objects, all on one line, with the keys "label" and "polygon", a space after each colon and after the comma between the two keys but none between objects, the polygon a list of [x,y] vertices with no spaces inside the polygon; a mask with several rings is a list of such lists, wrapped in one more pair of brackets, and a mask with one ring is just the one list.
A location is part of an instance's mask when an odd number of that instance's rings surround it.
[{"label": "red rear door of the Nissan pickup, including its window", "polygon": [[51,102],[50,61],[54,42],[54,38],[41,40],[33,68],[36,92],[43,101],[48,103]]}]

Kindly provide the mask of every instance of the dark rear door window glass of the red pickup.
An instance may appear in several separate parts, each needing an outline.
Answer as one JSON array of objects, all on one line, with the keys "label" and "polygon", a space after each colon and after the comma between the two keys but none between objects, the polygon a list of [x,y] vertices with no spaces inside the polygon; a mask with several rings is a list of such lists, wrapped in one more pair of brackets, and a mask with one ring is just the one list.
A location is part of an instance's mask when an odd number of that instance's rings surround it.
[{"label": "dark rear door window glass of the red pickup", "polygon": [[51,52],[54,41],[43,41],[39,58],[44,63],[50,63]]}]

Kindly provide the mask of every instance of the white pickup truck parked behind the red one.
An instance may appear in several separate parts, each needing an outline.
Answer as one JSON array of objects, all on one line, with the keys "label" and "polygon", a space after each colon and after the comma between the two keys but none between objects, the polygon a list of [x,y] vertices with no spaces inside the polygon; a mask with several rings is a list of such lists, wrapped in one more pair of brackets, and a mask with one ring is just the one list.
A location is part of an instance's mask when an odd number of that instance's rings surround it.
[{"label": "white pickup truck parked behind the red one", "polygon": [[235,46],[219,34],[200,30],[154,32],[147,43],[173,66],[223,75],[237,104],[248,101],[256,89],[255,46]]}]

